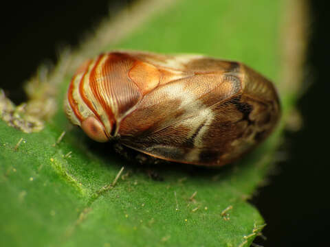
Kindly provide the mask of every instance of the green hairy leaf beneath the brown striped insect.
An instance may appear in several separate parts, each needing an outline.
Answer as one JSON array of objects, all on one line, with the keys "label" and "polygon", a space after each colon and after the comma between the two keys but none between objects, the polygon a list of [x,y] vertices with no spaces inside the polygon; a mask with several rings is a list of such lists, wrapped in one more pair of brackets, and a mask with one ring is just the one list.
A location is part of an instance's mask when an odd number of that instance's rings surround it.
[{"label": "green hairy leaf beneath the brown striped insect", "polygon": [[[98,49],[240,60],[278,82],[285,4],[253,4],[177,1]],[[281,91],[283,121],[241,161],[221,169],[148,167],[72,128],[61,107],[71,76],[65,72],[56,84],[58,110],[41,132],[26,134],[0,121],[0,246],[250,246],[265,222],[246,200],[276,160],[294,92]]]}]

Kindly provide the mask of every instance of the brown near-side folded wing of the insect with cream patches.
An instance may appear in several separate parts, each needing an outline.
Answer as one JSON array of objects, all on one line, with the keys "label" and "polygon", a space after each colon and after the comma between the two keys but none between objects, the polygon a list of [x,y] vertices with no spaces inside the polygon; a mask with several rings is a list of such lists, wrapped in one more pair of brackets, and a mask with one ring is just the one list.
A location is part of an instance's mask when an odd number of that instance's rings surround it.
[{"label": "brown near-side folded wing of the insect with cream patches", "polygon": [[[222,70],[197,71],[144,95],[121,121],[122,143],[169,161],[223,165],[264,139],[278,119],[272,84],[243,65],[214,61]],[[187,67],[200,69],[198,62]]]}]

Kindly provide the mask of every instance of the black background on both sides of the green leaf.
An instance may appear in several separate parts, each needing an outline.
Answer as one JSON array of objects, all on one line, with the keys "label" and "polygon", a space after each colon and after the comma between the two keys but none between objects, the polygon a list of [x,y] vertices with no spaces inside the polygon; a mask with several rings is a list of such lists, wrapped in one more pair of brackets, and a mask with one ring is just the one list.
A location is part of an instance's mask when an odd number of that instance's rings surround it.
[{"label": "black background on both sides of the green leaf", "polygon": [[[25,100],[21,84],[39,64],[56,62],[61,45],[74,47],[87,30],[93,30],[111,8],[119,11],[133,0],[47,1],[9,3],[2,9],[0,88],[19,103]],[[270,185],[259,189],[252,203],[268,226],[263,246],[329,246],[329,3],[309,1],[311,33],[307,53],[306,82],[309,90],[300,99],[303,116],[299,132],[287,132],[282,150],[287,158],[271,176]],[[74,14],[74,16],[73,16]]]}]

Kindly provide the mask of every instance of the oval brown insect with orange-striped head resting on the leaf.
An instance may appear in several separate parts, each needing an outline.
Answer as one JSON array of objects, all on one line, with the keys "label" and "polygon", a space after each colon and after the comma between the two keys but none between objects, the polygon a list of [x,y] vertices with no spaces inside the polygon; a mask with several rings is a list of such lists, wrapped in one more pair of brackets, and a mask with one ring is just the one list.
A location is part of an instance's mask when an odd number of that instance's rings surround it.
[{"label": "oval brown insect with orange-striped head resting on the leaf", "polygon": [[281,108],[272,82],[240,62],[113,51],[88,60],[65,99],[95,141],[167,161],[221,166],[267,137]]}]

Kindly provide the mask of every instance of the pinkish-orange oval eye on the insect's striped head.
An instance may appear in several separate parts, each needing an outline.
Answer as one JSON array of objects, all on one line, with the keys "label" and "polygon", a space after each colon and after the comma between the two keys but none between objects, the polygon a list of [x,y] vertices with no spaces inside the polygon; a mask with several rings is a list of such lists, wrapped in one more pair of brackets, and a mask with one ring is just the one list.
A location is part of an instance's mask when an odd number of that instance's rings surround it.
[{"label": "pinkish-orange oval eye on the insect's striped head", "polygon": [[89,116],[81,123],[81,128],[89,136],[89,138],[98,142],[106,142],[109,140],[105,134],[102,123],[95,117]]}]

